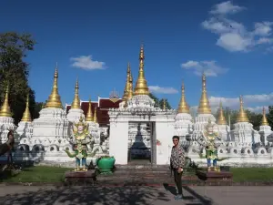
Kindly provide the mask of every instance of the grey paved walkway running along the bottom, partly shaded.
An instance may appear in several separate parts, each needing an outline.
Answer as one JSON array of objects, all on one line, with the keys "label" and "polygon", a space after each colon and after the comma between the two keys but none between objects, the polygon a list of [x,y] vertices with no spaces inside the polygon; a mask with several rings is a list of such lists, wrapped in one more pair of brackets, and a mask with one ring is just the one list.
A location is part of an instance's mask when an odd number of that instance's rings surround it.
[{"label": "grey paved walkway running along the bottom, partly shaded", "polygon": [[[1,186],[1,205],[272,205],[273,187],[184,187],[184,201],[173,187]],[[206,196],[206,197],[205,197]]]}]

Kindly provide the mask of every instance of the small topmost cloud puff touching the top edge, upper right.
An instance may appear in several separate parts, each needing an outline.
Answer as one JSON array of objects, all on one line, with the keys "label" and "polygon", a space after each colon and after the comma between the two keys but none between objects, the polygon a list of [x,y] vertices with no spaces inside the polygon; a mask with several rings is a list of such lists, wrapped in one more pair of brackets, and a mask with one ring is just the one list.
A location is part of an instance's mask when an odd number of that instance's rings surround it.
[{"label": "small topmost cloud puff touching the top edge, upper right", "polygon": [[210,14],[213,14],[213,15],[235,14],[244,9],[245,7],[243,6],[232,5],[230,1],[227,1],[227,2],[214,5],[213,10],[210,11]]}]

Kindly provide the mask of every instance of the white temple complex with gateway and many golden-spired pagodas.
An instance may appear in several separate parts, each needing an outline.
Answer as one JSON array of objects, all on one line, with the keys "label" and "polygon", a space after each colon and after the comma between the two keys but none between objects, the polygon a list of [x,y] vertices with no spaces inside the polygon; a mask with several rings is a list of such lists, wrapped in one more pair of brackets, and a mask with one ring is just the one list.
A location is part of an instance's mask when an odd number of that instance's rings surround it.
[{"label": "white temple complex with gateway and many golden-spired pagodas", "polygon": [[[126,70],[124,95],[119,98],[116,92],[110,97],[91,97],[83,101],[79,97],[79,82],[76,79],[75,97],[71,105],[63,108],[58,94],[58,71],[54,75],[52,92],[40,111],[40,117],[32,121],[26,108],[18,127],[14,124],[8,105],[9,88],[6,88],[5,101],[0,109],[0,141],[7,139],[9,129],[16,131],[15,160],[35,160],[46,164],[59,164],[74,167],[74,159],[66,155],[65,150],[72,150],[70,139],[73,138],[73,123],[84,118],[89,125],[89,132],[95,139],[88,151],[96,153],[91,160],[99,156],[110,155],[116,158],[116,164],[151,163],[166,165],[169,163],[172,137],[181,138],[187,156],[198,164],[206,164],[200,158],[205,150],[198,143],[208,123],[217,127],[221,136],[217,153],[222,165],[231,166],[272,166],[273,134],[268,126],[265,109],[259,130],[249,123],[243,106],[243,97],[239,97],[240,108],[237,122],[230,130],[224,117],[222,105],[219,115],[213,116],[207,97],[207,80],[202,76],[202,93],[193,118],[189,111],[182,84],[181,99],[178,108],[157,108],[155,101],[149,97],[149,89],[144,72],[144,47],[139,54],[139,70],[135,87],[130,65]],[[5,158],[2,156],[1,158]],[[90,160],[90,159],[89,159]]]}]

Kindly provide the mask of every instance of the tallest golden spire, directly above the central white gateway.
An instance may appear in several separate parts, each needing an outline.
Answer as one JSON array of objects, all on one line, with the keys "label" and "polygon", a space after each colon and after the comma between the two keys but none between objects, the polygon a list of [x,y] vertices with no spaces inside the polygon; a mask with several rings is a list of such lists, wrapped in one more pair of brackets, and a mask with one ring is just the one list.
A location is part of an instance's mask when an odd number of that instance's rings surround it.
[{"label": "tallest golden spire, directly above the central white gateway", "polygon": [[144,75],[144,48],[143,45],[140,47],[139,53],[139,70],[138,70],[138,78],[136,80],[135,87],[135,96],[137,95],[149,95],[149,88],[147,87],[147,81]]}]

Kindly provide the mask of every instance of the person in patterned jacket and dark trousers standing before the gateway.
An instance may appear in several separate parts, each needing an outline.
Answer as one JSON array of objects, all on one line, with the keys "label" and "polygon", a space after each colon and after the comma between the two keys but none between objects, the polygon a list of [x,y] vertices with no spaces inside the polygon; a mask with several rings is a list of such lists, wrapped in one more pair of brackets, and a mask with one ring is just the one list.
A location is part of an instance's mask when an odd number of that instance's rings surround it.
[{"label": "person in patterned jacket and dark trousers standing before the gateway", "polygon": [[182,200],[182,173],[183,173],[183,168],[185,164],[185,153],[184,149],[179,145],[179,137],[174,136],[173,137],[173,149],[171,153],[171,158],[170,158],[170,166],[171,169],[174,173],[175,177],[175,182],[177,185],[177,190],[178,194],[175,197],[175,200]]}]

